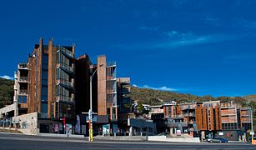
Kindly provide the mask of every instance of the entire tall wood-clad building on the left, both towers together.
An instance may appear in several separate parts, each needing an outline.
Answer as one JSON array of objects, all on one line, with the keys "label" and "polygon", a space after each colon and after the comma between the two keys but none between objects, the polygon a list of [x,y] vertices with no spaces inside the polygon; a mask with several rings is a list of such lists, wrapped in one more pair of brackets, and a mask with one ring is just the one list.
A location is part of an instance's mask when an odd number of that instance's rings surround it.
[{"label": "entire tall wood-clad building on the left, both towers together", "polygon": [[[1,109],[1,114],[15,117],[38,112],[33,115],[38,118],[38,128],[43,133],[63,133],[66,123],[68,127],[75,124],[75,114],[81,117],[80,125],[86,126],[88,116],[83,112],[90,108],[92,77],[92,107],[97,113],[93,117],[93,131],[102,132],[103,125],[109,125],[115,132],[118,126],[124,131],[128,127],[128,112],[132,107],[128,96],[130,78],[119,78],[117,83],[116,62],[107,62],[103,55],[93,64],[87,54],[76,59],[74,52],[74,45],[57,46],[53,39],[44,44],[41,38],[29,54],[28,62],[18,64],[14,104]],[[57,131],[58,128],[62,131]]]}]

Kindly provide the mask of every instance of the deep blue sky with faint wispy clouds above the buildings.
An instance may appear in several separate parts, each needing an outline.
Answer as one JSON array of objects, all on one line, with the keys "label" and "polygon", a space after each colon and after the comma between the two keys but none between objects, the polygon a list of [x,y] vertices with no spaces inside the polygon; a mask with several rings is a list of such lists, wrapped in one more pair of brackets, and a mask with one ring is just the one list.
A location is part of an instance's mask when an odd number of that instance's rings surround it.
[{"label": "deep blue sky with faint wispy clouds above the buildings", "polygon": [[37,0],[0,3],[0,76],[43,37],[106,54],[132,84],[196,95],[256,93],[256,1]]}]

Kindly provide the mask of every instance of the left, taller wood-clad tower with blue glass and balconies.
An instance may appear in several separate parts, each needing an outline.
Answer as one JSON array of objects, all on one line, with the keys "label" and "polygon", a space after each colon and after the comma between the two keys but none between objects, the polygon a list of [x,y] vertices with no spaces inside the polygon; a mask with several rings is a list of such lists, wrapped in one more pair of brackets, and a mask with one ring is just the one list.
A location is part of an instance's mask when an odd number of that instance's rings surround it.
[{"label": "left, taller wood-clad tower with blue glass and balconies", "polygon": [[73,118],[74,46],[35,44],[27,63],[18,64],[15,98],[19,112],[38,112],[39,118]]}]

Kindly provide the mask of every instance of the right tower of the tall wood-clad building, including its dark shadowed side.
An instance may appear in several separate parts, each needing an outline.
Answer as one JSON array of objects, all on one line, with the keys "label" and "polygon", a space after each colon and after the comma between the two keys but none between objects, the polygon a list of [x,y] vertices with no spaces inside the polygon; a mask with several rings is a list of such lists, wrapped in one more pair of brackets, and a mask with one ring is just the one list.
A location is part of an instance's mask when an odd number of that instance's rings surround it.
[{"label": "right tower of the tall wood-clad building, including its dark shadowed side", "polygon": [[[106,56],[98,57],[98,62],[93,64],[88,55],[78,57],[76,60],[76,112],[88,112],[90,106],[90,85],[92,80],[93,112],[96,112],[93,124],[94,133],[103,133],[103,126],[109,128],[119,127],[122,132],[127,128],[128,112],[131,108],[129,98],[129,77],[116,77],[116,62],[107,62]],[[93,74],[95,72],[95,74]],[[82,124],[87,115],[80,115]],[[118,118],[120,120],[118,120]],[[119,121],[119,122],[118,122]]]}]

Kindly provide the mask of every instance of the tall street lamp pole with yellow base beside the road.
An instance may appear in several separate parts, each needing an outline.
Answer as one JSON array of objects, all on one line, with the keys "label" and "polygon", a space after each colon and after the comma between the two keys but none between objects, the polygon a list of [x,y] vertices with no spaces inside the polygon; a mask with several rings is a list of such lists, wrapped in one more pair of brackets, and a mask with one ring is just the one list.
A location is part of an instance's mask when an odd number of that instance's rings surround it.
[{"label": "tall street lamp pole with yellow base beside the road", "polygon": [[[103,67],[103,64],[100,64],[99,67]],[[90,76],[90,109],[88,112],[88,117],[89,117],[89,141],[93,142],[93,76],[97,72],[97,69],[93,72],[93,74]]]}]

